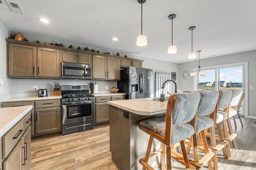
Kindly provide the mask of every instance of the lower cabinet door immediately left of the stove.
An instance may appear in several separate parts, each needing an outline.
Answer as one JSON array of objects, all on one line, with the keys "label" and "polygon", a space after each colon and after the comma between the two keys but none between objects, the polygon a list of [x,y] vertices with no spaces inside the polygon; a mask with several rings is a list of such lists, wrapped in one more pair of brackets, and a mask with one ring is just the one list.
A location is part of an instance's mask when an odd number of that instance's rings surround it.
[{"label": "lower cabinet door immediately left of the stove", "polygon": [[61,131],[60,107],[35,109],[35,135]]}]

